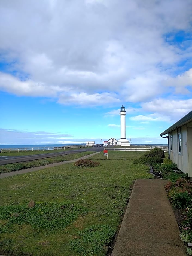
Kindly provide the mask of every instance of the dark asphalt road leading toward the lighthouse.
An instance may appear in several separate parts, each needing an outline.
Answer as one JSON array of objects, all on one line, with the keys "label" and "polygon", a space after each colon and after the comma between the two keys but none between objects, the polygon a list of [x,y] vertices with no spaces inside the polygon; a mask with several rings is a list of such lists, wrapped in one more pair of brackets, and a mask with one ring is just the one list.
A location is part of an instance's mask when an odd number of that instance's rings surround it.
[{"label": "dark asphalt road leading toward the lighthouse", "polygon": [[86,151],[102,151],[104,147],[92,147],[92,148],[83,148],[77,150],[69,150],[69,151],[62,151],[57,153],[47,153],[47,154],[39,154],[39,155],[31,155],[31,156],[0,156],[0,165],[4,164],[12,164],[12,163],[19,163],[19,162],[26,162],[32,161],[42,158],[54,157],[54,156],[64,156],[69,154],[74,154],[78,152],[86,152]]}]

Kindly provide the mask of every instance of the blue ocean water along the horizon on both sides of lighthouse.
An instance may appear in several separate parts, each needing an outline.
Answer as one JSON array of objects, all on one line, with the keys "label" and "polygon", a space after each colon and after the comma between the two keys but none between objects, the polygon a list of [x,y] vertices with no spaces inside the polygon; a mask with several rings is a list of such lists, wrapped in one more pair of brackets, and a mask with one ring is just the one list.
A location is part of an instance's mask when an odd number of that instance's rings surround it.
[{"label": "blue ocean water along the horizon on both sides of lighthouse", "polygon": [[[81,143],[81,144],[30,144],[30,145],[0,145],[0,148],[13,148],[13,149],[18,149],[18,148],[44,148],[44,147],[64,147],[64,146],[79,146],[79,145],[86,145],[86,143]],[[131,146],[165,146],[168,147],[168,144],[131,144]]]}]

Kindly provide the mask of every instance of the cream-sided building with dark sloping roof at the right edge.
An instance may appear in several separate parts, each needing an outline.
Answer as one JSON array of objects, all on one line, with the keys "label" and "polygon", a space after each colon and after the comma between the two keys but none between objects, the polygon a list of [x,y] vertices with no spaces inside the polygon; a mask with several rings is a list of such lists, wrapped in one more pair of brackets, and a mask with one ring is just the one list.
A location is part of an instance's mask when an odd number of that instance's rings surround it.
[{"label": "cream-sided building with dark sloping roof at the right edge", "polygon": [[169,159],[192,177],[192,111],[160,134],[168,134]]}]

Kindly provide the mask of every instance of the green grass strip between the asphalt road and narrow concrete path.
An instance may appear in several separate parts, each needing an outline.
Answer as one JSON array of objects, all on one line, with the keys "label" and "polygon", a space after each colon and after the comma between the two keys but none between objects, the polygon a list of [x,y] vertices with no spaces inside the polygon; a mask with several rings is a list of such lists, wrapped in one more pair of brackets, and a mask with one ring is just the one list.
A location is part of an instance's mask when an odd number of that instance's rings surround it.
[{"label": "green grass strip between the asphalt road and narrow concrete path", "polygon": [[0,165],[0,173],[13,172],[13,171],[28,169],[28,168],[37,167],[37,166],[44,166],[52,163],[70,161],[73,159],[77,159],[79,157],[87,156],[92,153],[94,152],[85,151],[85,152],[78,152],[74,154],[64,155],[64,156],[48,157],[48,158],[42,158],[42,159],[33,160],[33,161]]}]

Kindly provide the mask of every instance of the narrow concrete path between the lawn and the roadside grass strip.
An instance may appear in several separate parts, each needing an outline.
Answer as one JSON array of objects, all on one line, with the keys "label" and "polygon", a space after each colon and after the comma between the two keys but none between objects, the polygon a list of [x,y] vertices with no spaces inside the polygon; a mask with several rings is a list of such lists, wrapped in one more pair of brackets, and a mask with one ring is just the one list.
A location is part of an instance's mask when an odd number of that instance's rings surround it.
[{"label": "narrow concrete path between the lawn and the roadside grass strip", "polygon": [[55,167],[55,166],[62,165],[62,164],[73,163],[73,162],[76,162],[80,159],[89,158],[89,157],[94,156],[95,154],[98,154],[98,153],[100,153],[100,151],[96,152],[96,153],[93,153],[93,154],[90,154],[90,155],[87,155],[87,156],[77,158],[77,159],[73,159],[73,160],[70,160],[70,161],[59,162],[59,163],[54,163],[54,164],[47,164],[47,165],[43,165],[43,166],[38,166],[38,167],[33,167],[33,168],[28,168],[28,169],[22,169],[22,170],[14,171],[14,172],[2,173],[2,174],[0,174],[0,178],[5,178],[5,177],[17,175],[17,174],[26,173],[26,172],[34,172],[34,171],[38,171],[38,170],[49,168],[49,167]]}]

